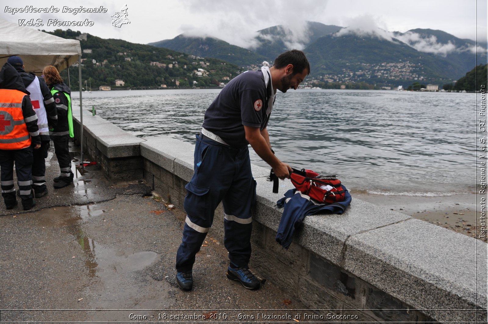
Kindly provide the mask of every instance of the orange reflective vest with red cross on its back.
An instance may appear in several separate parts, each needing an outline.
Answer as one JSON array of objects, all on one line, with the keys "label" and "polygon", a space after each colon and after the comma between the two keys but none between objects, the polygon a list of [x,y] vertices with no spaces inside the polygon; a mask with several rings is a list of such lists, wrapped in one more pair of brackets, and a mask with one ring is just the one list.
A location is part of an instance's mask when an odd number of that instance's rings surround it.
[{"label": "orange reflective vest with red cross on its back", "polygon": [[19,90],[0,89],[1,150],[20,150],[31,144],[22,114],[24,96],[27,95]]}]

